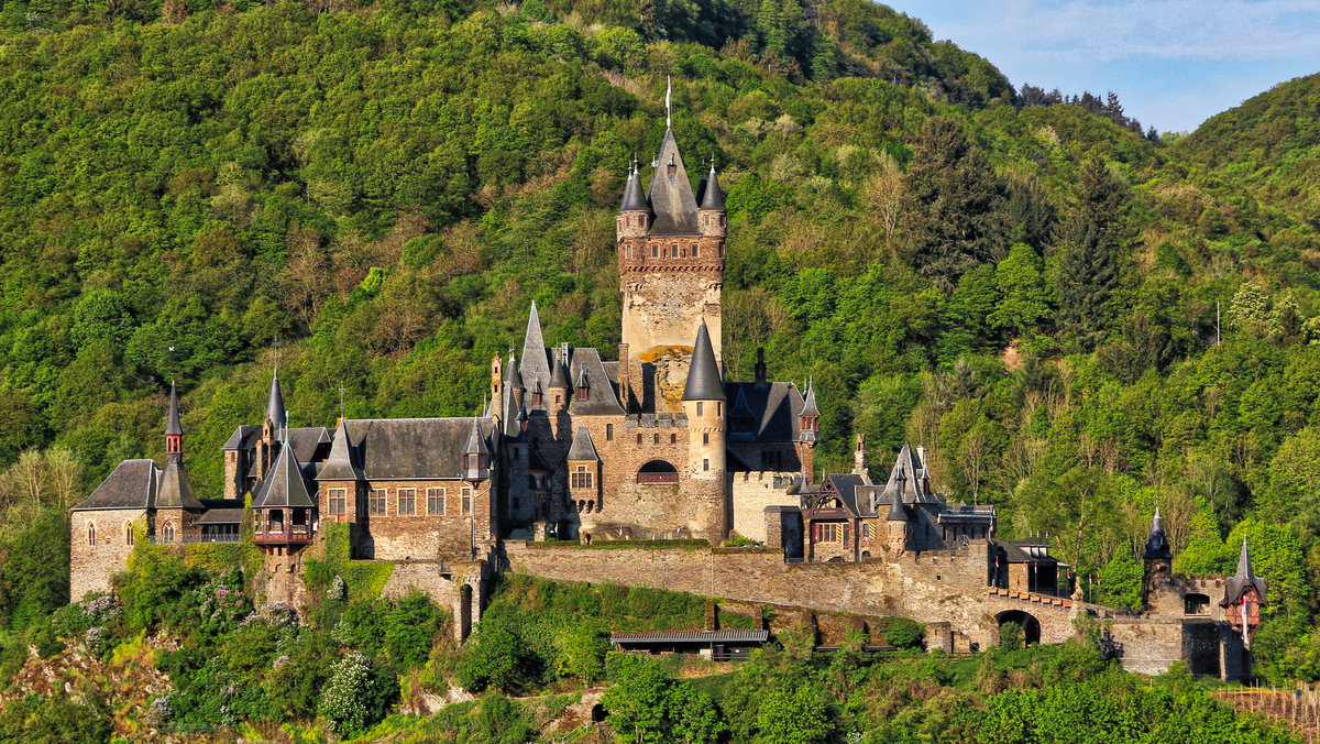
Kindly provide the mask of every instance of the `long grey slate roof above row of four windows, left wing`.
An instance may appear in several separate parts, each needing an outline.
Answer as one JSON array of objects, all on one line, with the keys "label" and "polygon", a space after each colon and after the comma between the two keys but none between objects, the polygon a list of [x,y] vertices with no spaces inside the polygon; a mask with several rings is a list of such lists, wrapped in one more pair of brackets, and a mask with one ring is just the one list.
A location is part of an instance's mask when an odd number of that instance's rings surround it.
[{"label": "long grey slate roof above row of four windows, left wing", "polygon": [[473,422],[490,436],[490,419],[348,419],[348,441],[367,480],[459,480]]}]

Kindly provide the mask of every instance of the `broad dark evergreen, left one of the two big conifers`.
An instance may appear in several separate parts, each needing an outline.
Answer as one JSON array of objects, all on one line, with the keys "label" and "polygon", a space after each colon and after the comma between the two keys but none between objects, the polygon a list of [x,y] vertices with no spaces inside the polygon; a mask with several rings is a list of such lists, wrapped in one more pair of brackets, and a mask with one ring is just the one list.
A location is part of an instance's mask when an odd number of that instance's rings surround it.
[{"label": "broad dark evergreen, left one of the two big conifers", "polygon": [[953,119],[932,116],[908,167],[903,256],[945,292],[978,264],[1003,255],[1005,185]]}]

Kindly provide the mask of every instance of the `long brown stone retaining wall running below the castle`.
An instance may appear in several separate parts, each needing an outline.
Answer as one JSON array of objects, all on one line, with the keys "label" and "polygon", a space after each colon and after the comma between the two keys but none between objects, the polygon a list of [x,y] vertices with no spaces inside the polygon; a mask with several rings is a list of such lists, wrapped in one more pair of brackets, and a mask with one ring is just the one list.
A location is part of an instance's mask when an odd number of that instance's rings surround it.
[{"label": "long brown stone retaining wall running below the castle", "polygon": [[[978,550],[979,547],[979,550]],[[774,548],[587,548],[506,542],[512,571],[558,581],[611,581],[863,616],[903,614],[949,622],[985,645],[983,546],[940,554],[907,554],[895,563],[784,563]]]}]

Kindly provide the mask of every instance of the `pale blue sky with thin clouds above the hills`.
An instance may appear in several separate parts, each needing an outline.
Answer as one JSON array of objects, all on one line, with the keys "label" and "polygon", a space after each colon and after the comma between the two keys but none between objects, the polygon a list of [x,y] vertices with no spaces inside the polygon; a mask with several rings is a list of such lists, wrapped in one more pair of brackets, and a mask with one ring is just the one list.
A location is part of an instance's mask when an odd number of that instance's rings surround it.
[{"label": "pale blue sky with thin clouds above the hills", "polygon": [[1064,94],[1118,94],[1142,126],[1193,131],[1320,73],[1320,0],[886,0],[936,40]]}]

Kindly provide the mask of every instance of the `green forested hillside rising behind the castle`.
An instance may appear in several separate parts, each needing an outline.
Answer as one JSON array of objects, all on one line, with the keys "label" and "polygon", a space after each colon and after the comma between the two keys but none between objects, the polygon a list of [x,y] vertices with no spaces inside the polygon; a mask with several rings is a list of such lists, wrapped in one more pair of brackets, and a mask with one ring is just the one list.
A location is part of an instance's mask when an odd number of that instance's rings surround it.
[{"label": "green forested hillside rising behind the castle", "polygon": [[1163,147],[862,0],[3,19],[15,530],[63,506],[51,484],[158,455],[170,379],[215,496],[276,340],[297,426],[331,424],[341,385],[350,416],[471,412],[533,299],[546,341],[614,348],[612,214],[672,77],[684,153],[729,190],[729,371],[763,345],[813,377],[821,461],[850,468],[854,431],[878,464],[924,443],[941,490],[1049,533],[1115,604],[1156,501],[1180,568],[1230,571],[1246,535],[1276,592],[1262,669],[1313,674],[1313,78]]}]

